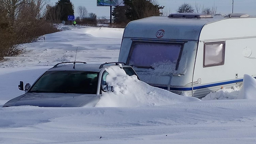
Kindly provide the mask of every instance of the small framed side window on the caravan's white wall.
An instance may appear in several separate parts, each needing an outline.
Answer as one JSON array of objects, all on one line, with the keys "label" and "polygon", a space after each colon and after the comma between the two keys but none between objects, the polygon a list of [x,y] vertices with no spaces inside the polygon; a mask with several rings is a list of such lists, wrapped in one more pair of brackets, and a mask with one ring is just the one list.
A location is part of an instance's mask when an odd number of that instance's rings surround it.
[{"label": "small framed side window on the caravan's white wall", "polygon": [[204,43],[204,67],[223,65],[225,61],[225,42]]}]

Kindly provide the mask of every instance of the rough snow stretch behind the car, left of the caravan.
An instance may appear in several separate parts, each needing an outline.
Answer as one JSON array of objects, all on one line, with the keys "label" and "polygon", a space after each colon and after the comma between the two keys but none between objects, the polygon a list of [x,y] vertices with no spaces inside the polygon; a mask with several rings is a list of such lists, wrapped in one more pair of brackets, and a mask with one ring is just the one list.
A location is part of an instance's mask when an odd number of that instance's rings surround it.
[{"label": "rough snow stretch behind the car, left of the caravan", "polygon": [[117,61],[124,29],[87,27],[45,34],[37,42],[22,44],[26,52],[17,57],[4,57],[0,68],[53,66],[76,61],[105,63]]}]

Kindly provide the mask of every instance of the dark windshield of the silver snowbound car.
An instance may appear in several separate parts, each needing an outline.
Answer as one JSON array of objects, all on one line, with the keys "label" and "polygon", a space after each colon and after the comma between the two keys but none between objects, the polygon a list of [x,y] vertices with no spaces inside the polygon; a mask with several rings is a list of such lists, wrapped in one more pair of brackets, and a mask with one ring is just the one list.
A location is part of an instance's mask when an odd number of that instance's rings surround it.
[{"label": "dark windshield of the silver snowbound car", "polygon": [[36,81],[30,93],[96,94],[97,72],[49,71]]}]

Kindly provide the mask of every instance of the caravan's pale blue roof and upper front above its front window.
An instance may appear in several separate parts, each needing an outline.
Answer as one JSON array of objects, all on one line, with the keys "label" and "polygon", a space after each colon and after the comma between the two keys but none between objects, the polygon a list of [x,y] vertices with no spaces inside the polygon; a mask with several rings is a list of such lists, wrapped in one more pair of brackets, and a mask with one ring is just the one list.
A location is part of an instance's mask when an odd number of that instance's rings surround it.
[{"label": "caravan's pale blue roof and upper front above its front window", "polygon": [[[156,38],[161,27],[165,31],[164,39],[198,41],[199,34],[205,24],[224,19],[223,17],[189,19],[155,16],[132,21],[127,25],[124,38]],[[150,29],[150,31],[146,31]],[[163,38],[162,38],[163,39]]]}]

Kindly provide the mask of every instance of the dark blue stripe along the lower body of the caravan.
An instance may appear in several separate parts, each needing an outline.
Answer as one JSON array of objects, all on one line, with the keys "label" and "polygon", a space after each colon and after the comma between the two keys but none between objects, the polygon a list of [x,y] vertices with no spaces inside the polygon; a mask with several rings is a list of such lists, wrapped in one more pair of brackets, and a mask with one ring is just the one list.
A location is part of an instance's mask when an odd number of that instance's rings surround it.
[{"label": "dark blue stripe along the lower body of the caravan", "polygon": [[[216,86],[221,86],[221,85],[227,85],[227,84],[232,84],[232,83],[242,82],[242,81],[243,81],[243,79],[219,82],[219,83],[215,83],[215,84],[209,84],[209,85],[194,87],[193,90],[207,88],[207,87],[216,87]],[[189,91],[189,90],[192,90],[192,87],[170,87],[170,90]]]}]

